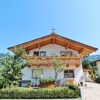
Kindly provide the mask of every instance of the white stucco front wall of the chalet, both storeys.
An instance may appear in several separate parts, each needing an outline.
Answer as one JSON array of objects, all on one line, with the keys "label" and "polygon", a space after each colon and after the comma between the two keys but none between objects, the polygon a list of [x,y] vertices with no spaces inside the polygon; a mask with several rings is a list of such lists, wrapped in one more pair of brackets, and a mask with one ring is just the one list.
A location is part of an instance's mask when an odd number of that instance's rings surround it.
[{"label": "white stucco front wall of the chalet, both storeys", "polygon": [[[72,51],[73,52],[73,56],[79,56],[79,53],[75,50],[71,50],[71,49],[65,49],[65,47],[59,46],[59,45],[46,45],[44,47],[41,47],[40,49],[34,49],[31,50],[29,52],[30,56],[33,56],[33,52],[34,51],[46,51],[46,56],[52,56],[52,55],[60,55],[60,51]],[[32,70],[33,69],[43,69],[43,77],[54,77],[55,76],[55,72],[53,67],[47,67],[47,66],[32,66],[30,68],[25,67],[22,71],[23,71],[23,78],[22,80],[31,80],[32,82],[34,81],[34,78],[32,78]],[[74,76],[75,78],[66,78],[65,80],[75,80],[77,83],[79,82],[79,79],[81,76],[83,76],[83,71],[82,71],[82,65],[80,65],[79,67],[76,68],[76,66],[70,66],[70,67],[65,67],[65,69],[74,69]],[[62,71],[59,75],[58,75],[58,79],[63,79],[64,78],[64,71]]]}]

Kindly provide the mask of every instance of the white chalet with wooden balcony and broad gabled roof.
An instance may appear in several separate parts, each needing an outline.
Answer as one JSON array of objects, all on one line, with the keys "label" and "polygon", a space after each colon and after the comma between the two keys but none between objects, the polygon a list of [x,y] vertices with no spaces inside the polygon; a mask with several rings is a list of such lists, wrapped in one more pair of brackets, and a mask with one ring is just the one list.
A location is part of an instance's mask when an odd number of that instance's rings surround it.
[{"label": "white chalet with wooden balcony and broad gabled roof", "polygon": [[[97,50],[97,48],[57,35],[54,32],[21,45],[28,54],[25,60],[32,63],[30,68],[26,66],[22,70],[24,74],[22,80],[31,80],[32,84],[39,84],[40,77],[55,76],[52,67],[53,56],[59,56],[65,64],[58,79],[61,82],[64,80],[78,83],[80,77],[83,76],[81,58]],[[8,49],[13,50],[14,47]]]}]

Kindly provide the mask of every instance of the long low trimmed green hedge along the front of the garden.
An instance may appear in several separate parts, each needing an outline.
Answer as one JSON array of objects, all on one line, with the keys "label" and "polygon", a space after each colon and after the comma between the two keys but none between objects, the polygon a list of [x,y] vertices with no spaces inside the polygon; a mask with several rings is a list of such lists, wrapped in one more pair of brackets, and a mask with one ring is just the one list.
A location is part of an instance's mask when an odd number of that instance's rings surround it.
[{"label": "long low trimmed green hedge along the front of the garden", "polygon": [[0,99],[55,99],[55,98],[78,98],[76,90],[66,87],[57,88],[11,88],[0,90]]}]

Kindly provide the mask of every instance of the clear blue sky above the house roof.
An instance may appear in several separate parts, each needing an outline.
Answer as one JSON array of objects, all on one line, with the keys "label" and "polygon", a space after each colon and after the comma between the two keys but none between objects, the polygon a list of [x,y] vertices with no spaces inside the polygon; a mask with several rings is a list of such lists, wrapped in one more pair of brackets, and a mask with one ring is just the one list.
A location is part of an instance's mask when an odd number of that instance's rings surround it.
[{"label": "clear blue sky above the house roof", "polygon": [[53,27],[59,35],[100,48],[100,0],[0,0],[0,53],[48,35]]}]

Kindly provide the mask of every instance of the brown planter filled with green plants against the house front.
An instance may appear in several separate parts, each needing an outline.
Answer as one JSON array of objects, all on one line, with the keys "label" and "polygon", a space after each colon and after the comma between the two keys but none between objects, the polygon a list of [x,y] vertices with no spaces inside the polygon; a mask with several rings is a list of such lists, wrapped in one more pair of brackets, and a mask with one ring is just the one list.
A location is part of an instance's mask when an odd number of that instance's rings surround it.
[{"label": "brown planter filled with green plants against the house front", "polygon": [[54,78],[40,78],[40,87],[41,88],[51,88],[55,86]]}]

